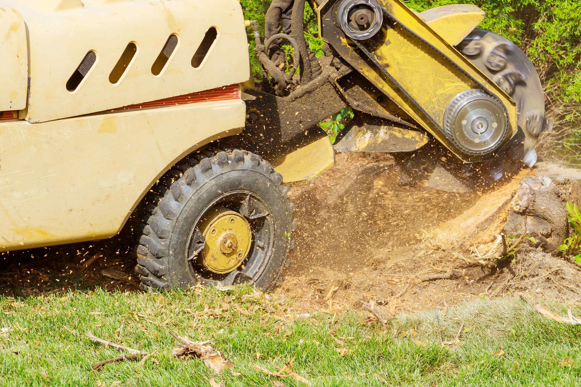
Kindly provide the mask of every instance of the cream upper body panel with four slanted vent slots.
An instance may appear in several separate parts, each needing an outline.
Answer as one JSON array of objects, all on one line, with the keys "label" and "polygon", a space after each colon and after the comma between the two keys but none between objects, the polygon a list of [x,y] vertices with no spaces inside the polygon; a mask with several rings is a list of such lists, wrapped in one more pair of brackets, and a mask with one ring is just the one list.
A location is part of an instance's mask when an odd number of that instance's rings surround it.
[{"label": "cream upper body panel with four slanted vent slots", "polygon": [[[248,42],[238,0],[91,0],[13,2],[30,44],[29,122],[96,113],[238,84],[250,78]],[[40,3],[44,3],[41,6]],[[206,32],[217,39],[199,68],[192,57]],[[152,65],[170,34],[179,38],[159,76]],[[134,60],[118,84],[109,74],[130,42]],[[66,83],[89,50],[96,63],[74,92]]]}]

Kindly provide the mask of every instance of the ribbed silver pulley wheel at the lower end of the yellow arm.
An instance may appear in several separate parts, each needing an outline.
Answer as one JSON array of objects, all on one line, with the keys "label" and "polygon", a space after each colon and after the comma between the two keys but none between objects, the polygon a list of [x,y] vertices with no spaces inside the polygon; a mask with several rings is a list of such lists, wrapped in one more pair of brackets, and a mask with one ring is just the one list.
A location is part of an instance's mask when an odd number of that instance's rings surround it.
[{"label": "ribbed silver pulley wheel at the lower end of the yellow arm", "polygon": [[444,131],[467,154],[485,155],[500,147],[508,135],[508,112],[496,97],[479,89],[458,94],[444,113]]}]

